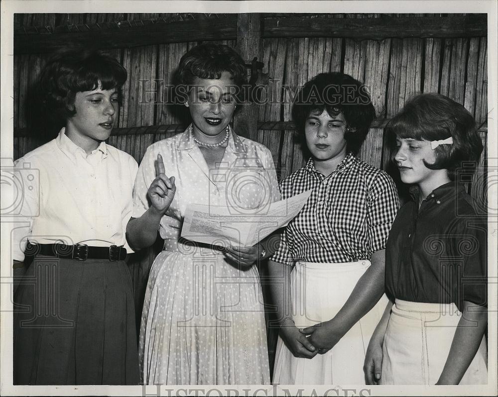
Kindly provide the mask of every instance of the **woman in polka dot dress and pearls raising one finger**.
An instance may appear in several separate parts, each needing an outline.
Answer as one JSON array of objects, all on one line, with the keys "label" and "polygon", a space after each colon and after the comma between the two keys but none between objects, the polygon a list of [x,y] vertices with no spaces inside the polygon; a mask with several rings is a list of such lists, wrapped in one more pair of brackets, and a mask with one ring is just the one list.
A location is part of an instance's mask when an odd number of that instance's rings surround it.
[{"label": "woman in polka dot dress and pearls raising one finger", "polygon": [[192,124],[151,145],[138,170],[128,239],[135,248],[145,247],[158,229],[164,239],[140,327],[145,384],[270,381],[255,265],[267,256],[265,243],[222,250],[179,237],[189,204],[223,205],[237,213],[280,198],[269,150],[229,125],[246,75],[244,61],[228,46],[203,44],[187,52],[178,77]]}]

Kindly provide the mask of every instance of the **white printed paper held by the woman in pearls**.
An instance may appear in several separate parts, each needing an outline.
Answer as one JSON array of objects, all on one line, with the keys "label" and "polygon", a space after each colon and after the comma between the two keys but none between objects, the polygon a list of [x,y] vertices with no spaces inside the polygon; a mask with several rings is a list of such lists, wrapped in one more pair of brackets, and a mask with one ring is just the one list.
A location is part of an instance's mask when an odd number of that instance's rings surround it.
[{"label": "white printed paper held by the woman in pearls", "polygon": [[183,238],[212,245],[252,246],[287,225],[301,210],[311,190],[273,202],[263,209],[227,208],[192,204],[185,213]]}]

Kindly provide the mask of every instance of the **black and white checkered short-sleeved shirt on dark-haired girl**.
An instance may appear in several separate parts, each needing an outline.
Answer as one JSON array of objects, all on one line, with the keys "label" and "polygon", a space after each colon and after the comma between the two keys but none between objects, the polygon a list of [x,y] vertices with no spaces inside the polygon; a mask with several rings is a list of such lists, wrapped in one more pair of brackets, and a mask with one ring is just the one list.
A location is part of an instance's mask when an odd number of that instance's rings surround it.
[{"label": "black and white checkered short-sleeved shirt on dark-haired girl", "polygon": [[350,153],[328,177],[310,159],[280,184],[282,199],[309,189],[310,198],[285,228],[271,260],[286,265],[355,262],[385,248],[399,206],[385,172]]}]

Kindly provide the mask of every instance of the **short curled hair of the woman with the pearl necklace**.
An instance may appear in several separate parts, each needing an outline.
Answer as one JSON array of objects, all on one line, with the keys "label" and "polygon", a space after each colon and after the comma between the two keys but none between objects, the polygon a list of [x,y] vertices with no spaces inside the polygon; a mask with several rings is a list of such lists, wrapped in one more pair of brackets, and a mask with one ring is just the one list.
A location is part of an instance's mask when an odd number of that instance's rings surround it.
[{"label": "short curled hair of the woman with the pearl necklace", "polygon": [[191,48],[181,57],[175,80],[176,84],[188,87],[196,77],[220,79],[223,72],[232,75],[237,88],[236,98],[242,100],[241,93],[248,84],[248,71],[241,56],[228,45],[204,43]]}]

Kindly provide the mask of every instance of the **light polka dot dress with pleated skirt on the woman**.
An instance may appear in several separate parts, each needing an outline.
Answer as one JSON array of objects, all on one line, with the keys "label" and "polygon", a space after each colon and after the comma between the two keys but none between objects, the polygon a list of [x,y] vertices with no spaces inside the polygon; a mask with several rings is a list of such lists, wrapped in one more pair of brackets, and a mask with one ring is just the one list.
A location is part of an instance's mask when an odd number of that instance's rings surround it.
[{"label": "light polka dot dress with pleated skirt on the woman", "polygon": [[160,222],[164,251],[149,275],[139,338],[145,384],[268,384],[264,307],[255,265],[240,269],[212,246],[180,238],[191,203],[233,214],[280,198],[271,154],[231,133],[221,165],[209,170],[187,129],[151,145],[135,182],[133,216],[147,208],[157,154],[175,177],[175,198]]}]

